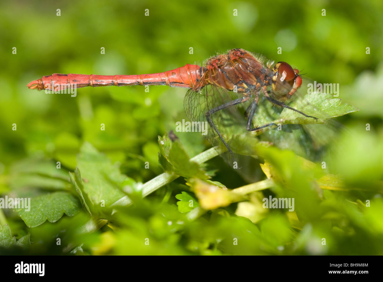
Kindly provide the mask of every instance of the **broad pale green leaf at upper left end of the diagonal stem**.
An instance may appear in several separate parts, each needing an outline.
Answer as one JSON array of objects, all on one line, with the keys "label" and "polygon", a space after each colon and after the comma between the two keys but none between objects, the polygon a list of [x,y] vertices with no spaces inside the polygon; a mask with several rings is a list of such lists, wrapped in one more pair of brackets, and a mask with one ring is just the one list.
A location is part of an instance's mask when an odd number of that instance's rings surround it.
[{"label": "broad pale green leaf at upper left end of the diagonal stem", "polygon": [[82,145],[77,156],[77,167],[82,174],[83,191],[93,205],[100,205],[101,201],[105,201],[105,206],[109,206],[126,196],[119,184],[127,177],[92,144],[85,142]]}]

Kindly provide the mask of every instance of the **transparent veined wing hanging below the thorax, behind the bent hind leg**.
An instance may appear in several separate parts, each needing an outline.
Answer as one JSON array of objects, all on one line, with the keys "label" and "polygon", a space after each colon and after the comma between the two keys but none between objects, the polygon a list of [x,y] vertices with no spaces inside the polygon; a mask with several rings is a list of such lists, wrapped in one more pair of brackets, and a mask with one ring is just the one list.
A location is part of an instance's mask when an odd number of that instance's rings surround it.
[{"label": "transparent veined wing hanging below the thorax, behind the bent hind leg", "polygon": [[243,95],[239,92],[207,85],[200,91],[190,89],[184,99],[184,108],[191,121],[205,123],[206,128],[208,128],[205,137],[215,147],[223,160],[240,173],[245,180],[254,182],[257,180],[255,172],[259,169],[259,162],[249,156],[254,154],[247,149],[252,144],[257,143],[258,138],[246,130],[245,111],[249,107],[250,101],[226,107],[211,114],[212,122],[233,151],[234,158],[206,118],[207,112],[241,97]]}]

